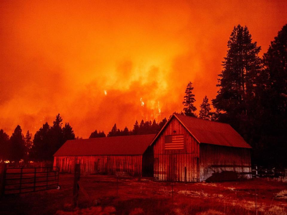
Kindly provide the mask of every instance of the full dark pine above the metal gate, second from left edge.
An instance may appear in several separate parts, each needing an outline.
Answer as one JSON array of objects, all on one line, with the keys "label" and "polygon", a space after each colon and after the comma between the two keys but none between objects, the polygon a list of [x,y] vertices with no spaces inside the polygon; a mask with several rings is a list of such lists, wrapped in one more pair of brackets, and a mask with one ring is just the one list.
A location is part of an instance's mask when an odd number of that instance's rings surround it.
[{"label": "full dark pine above the metal gate, second from left edge", "polygon": [[18,163],[25,156],[25,142],[24,135],[20,125],[17,125],[12,136],[10,137],[11,151],[9,160]]}]

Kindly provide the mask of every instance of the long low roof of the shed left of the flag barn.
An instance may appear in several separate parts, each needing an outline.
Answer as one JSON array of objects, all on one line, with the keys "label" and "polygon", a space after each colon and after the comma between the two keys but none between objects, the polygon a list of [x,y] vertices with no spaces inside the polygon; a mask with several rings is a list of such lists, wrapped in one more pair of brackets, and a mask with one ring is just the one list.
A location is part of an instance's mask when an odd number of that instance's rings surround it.
[{"label": "long low roof of the shed left of the flag barn", "polygon": [[155,134],[68,140],[54,156],[141,155]]}]

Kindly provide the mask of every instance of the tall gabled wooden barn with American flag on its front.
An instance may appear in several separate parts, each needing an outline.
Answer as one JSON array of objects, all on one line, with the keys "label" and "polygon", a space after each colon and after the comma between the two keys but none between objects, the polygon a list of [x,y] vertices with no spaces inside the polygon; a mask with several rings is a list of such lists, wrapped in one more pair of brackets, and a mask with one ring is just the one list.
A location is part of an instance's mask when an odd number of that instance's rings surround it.
[{"label": "tall gabled wooden barn with American flag on its front", "polygon": [[251,178],[251,146],[230,125],[173,114],[150,145],[161,181]]}]

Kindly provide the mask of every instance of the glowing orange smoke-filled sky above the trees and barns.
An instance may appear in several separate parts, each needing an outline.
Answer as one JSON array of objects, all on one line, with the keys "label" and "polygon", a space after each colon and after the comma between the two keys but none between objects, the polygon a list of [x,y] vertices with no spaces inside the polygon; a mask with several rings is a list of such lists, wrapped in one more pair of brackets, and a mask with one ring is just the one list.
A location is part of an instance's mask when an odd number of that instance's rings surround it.
[{"label": "glowing orange smoke-filled sky above the trees and barns", "polygon": [[83,138],[132,128],[182,110],[189,81],[199,109],[234,25],[262,55],[287,23],[284,1],[196,2],[0,1],[0,129],[34,134],[57,113]]}]

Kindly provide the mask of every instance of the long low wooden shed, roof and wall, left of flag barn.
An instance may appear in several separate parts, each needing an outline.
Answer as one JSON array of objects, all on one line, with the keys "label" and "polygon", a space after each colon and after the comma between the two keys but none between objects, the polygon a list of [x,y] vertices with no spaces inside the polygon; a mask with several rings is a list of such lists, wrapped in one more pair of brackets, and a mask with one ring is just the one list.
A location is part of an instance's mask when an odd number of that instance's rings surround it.
[{"label": "long low wooden shed, roof and wall, left of flag barn", "polygon": [[73,172],[81,164],[81,173],[125,173],[141,176],[152,163],[143,161],[155,134],[68,140],[54,154],[54,166],[60,172]]}]

